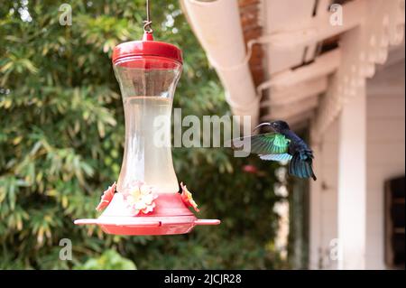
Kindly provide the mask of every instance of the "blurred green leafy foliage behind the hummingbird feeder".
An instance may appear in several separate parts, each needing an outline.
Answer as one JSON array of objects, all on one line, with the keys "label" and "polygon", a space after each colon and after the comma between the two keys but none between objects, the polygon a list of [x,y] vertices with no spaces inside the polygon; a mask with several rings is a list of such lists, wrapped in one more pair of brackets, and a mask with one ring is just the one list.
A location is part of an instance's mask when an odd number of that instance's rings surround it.
[{"label": "blurred green leafy foliage behind the hummingbird feeder", "polygon": [[[125,126],[111,53],[115,44],[141,38],[144,3],[69,1],[71,26],[59,23],[62,2],[29,1],[31,22],[19,12],[23,3],[0,5],[0,268],[129,267],[108,249],[142,269],[283,266],[272,248],[275,166],[234,158],[228,149],[173,149],[200,217],[221,218],[219,227],[118,237],[73,225],[97,217],[100,195],[120,170]],[[178,1],[152,1],[152,20],[157,40],[184,51],[174,107],[183,115],[229,113]],[[261,173],[244,172],[245,164]],[[59,260],[65,237],[72,261]]]}]

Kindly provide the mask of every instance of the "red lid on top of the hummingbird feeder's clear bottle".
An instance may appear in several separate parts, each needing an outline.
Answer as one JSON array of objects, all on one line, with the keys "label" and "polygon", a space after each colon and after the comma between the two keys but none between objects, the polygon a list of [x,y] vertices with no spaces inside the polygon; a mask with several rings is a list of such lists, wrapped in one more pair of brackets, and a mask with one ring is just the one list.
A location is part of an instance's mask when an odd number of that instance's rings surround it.
[{"label": "red lid on top of the hummingbird feeder's clear bottle", "polygon": [[182,51],[175,45],[153,41],[152,33],[144,33],[142,41],[124,42],[115,46],[113,64],[133,57],[162,57],[182,63]]}]

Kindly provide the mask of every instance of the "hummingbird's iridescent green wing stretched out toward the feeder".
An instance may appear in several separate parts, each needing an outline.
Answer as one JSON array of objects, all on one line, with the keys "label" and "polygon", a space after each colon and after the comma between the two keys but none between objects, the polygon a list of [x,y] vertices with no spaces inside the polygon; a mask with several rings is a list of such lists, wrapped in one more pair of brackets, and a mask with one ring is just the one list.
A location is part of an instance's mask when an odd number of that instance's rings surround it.
[{"label": "hummingbird's iridescent green wing stretched out toward the feeder", "polygon": [[[279,133],[265,133],[247,136],[240,139],[233,139],[231,141],[231,146],[235,150],[245,150],[248,153],[256,153],[260,154],[261,156],[268,156],[270,154],[287,154],[290,143],[291,140],[287,139],[284,135],[281,135]],[[273,160],[270,157],[268,157],[269,159],[264,160]],[[281,160],[275,159],[275,161]]]}]

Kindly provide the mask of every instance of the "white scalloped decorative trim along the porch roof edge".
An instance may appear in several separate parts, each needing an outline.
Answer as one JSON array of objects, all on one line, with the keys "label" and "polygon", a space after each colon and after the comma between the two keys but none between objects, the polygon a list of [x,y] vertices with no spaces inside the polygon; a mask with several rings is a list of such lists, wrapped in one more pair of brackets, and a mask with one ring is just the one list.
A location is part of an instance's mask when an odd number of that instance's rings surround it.
[{"label": "white scalloped decorative trim along the porch roof edge", "polygon": [[318,107],[314,137],[323,134],[343,106],[364,91],[365,79],[374,76],[375,64],[385,62],[389,46],[401,43],[404,4],[404,0],[370,0],[364,22],[342,35],[342,61]]}]

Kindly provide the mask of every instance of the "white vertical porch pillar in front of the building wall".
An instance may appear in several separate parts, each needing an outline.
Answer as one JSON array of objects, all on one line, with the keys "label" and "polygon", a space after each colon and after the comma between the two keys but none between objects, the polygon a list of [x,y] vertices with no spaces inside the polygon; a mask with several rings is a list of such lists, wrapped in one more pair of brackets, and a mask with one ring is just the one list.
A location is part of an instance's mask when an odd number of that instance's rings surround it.
[{"label": "white vertical porch pillar in front of the building wall", "polygon": [[343,105],[338,136],[338,269],[364,269],[366,233],[366,95]]}]

